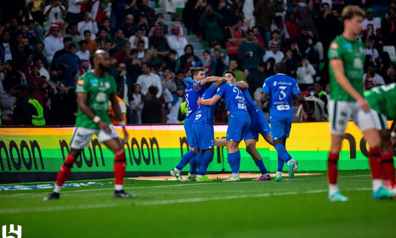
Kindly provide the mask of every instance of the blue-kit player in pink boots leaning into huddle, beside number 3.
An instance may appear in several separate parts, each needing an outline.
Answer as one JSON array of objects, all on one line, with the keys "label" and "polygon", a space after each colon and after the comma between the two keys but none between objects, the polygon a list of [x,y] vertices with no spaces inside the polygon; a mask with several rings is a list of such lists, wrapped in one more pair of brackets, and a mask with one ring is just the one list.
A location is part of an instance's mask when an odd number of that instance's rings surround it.
[{"label": "blue-kit player in pink boots leaning into huddle, beside number 3", "polygon": [[[233,72],[227,71],[224,74],[224,78],[228,82],[235,82],[235,74]],[[246,84],[243,81],[235,83],[237,86],[240,84]],[[257,151],[256,143],[258,141],[258,134],[261,134],[262,137],[270,144],[274,145],[271,138],[271,128],[268,125],[268,121],[266,115],[262,112],[262,110],[256,105],[253,101],[252,97],[249,94],[247,89],[241,89],[245,101],[248,113],[250,115],[250,128],[245,133],[243,139],[246,144],[246,151],[252,156],[254,163],[258,167],[261,172],[261,176],[257,179],[253,179],[253,181],[268,181],[271,180],[271,176],[269,175],[266,166],[264,165],[260,154]]]}]

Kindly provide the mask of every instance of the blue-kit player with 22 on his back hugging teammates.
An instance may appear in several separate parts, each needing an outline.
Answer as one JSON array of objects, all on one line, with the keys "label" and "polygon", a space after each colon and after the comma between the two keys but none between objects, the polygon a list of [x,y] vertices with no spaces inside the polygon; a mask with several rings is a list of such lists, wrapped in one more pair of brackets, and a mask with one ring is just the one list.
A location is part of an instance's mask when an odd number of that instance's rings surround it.
[{"label": "blue-kit player with 22 on his back hugging teammates", "polygon": [[[246,109],[245,97],[238,86],[226,83],[218,86],[215,95],[206,100],[201,98],[197,104],[212,106],[220,98],[224,98],[225,105],[229,111],[229,122],[226,135],[226,148],[228,154],[228,164],[231,167],[232,175],[224,182],[239,181],[239,168],[241,163],[241,152],[239,151],[239,143],[243,139],[246,131],[250,127],[250,115]],[[246,84],[246,88],[249,86]]]}]

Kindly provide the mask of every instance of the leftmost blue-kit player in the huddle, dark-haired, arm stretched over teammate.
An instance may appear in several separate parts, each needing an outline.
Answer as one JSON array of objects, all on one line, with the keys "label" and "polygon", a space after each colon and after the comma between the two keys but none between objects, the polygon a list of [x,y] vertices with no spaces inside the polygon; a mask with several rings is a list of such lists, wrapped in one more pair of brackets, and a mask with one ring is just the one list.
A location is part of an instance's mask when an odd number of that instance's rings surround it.
[{"label": "leftmost blue-kit player in the huddle, dark-haired, arm stretched over teammate", "polygon": [[[184,120],[184,130],[186,131],[187,143],[190,146],[190,150],[188,150],[181,158],[179,164],[171,170],[171,175],[175,177],[179,181],[185,181],[180,172],[181,170],[190,163],[190,176],[187,178],[190,181],[195,181],[195,173],[197,169],[196,157],[197,150],[194,148],[194,134],[193,134],[193,122],[195,119],[195,112],[198,106],[196,105],[196,101],[202,94],[205,92],[205,84],[207,82],[215,82],[220,77],[208,77],[205,78],[205,68],[203,67],[195,67],[191,70],[191,78],[192,82],[185,89],[184,94],[187,103],[187,115]],[[205,78],[205,80],[204,80]]]}]

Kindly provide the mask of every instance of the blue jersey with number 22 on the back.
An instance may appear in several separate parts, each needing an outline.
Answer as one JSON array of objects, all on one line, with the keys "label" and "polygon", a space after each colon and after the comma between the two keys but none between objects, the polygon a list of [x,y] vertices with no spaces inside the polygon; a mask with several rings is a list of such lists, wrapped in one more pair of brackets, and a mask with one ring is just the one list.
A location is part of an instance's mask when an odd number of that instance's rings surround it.
[{"label": "blue jersey with number 22 on the back", "polygon": [[224,98],[225,106],[230,116],[249,115],[246,110],[246,101],[238,86],[230,83],[221,85],[215,95]]}]

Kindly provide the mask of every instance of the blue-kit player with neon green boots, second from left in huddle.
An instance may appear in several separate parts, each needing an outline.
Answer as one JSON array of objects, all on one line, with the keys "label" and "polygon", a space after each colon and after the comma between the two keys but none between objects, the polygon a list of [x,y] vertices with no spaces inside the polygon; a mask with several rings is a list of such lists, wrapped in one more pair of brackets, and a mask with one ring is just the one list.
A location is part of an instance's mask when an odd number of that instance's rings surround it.
[{"label": "blue-kit player with neon green boots, second from left in huddle", "polygon": [[[212,86],[209,87],[202,95],[202,98],[204,100],[210,99],[216,91],[217,88],[213,83]],[[196,110],[193,126],[195,132],[194,141],[196,143],[195,148],[200,148],[198,154],[201,154],[202,156],[201,166],[198,168],[198,177],[196,178],[197,182],[211,181],[208,176],[206,176],[206,172],[214,154],[213,116],[219,104],[220,102],[217,102],[212,106],[199,105]]]}]

